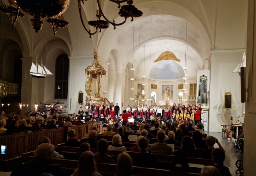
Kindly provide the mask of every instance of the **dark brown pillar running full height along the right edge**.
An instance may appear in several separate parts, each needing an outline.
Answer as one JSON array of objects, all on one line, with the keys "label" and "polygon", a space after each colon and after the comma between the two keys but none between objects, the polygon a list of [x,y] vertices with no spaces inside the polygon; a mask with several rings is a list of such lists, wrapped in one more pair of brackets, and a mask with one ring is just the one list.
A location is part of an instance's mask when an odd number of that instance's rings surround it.
[{"label": "dark brown pillar running full height along the right edge", "polygon": [[[248,83],[245,103],[244,175],[255,175],[255,117],[256,117],[256,2],[248,0],[246,82]],[[254,53],[255,52],[255,53]]]}]

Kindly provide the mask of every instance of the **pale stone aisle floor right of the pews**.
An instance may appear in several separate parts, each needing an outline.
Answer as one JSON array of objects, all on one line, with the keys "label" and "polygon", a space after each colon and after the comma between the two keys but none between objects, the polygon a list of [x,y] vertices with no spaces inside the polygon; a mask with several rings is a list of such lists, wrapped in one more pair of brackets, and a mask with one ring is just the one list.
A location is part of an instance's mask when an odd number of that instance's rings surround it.
[{"label": "pale stone aisle floor right of the pews", "polygon": [[[241,176],[238,168],[236,167],[237,160],[243,160],[243,153],[241,150],[234,148],[233,140],[227,140],[225,136],[222,136],[222,133],[217,132],[208,132],[207,135],[214,136],[218,139],[219,143],[225,149],[226,158],[224,161],[224,165],[229,168],[232,176]],[[218,147],[218,144],[215,144],[214,147]]]}]

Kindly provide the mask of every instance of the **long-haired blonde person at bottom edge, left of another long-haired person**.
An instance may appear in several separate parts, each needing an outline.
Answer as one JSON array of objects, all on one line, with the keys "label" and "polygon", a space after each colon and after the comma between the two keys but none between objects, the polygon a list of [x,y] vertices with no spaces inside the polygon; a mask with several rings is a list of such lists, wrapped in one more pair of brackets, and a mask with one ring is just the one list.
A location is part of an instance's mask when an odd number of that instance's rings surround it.
[{"label": "long-haired blonde person at bottom edge, left of another long-haired person", "polygon": [[93,152],[83,152],[79,158],[78,168],[71,176],[101,176],[97,172]]}]

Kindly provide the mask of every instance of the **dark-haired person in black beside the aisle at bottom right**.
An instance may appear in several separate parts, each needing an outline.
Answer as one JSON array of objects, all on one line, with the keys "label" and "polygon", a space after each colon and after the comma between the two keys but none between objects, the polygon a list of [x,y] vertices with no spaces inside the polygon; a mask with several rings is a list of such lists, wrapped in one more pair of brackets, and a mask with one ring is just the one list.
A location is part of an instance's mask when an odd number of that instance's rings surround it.
[{"label": "dark-haired person in black beside the aisle at bottom right", "polygon": [[221,176],[231,176],[229,168],[224,166],[225,152],[216,148],[212,150],[212,159],[214,160],[214,167],[218,169]]}]

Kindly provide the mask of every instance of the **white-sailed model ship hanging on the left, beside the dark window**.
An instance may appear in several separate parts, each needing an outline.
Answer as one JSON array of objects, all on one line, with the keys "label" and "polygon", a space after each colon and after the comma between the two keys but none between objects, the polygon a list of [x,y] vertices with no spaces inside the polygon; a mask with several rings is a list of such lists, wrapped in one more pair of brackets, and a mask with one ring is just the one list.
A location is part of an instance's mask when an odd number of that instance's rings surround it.
[{"label": "white-sailed model ship hanging on the left, beside the dark window", "polygon": [[45,78],[47,75],[52,75],[52,73],[43,65],[43,59],[41,60],[41,66],[38,63],[35,65],[32,62],[29,73],[34,78]]}]

